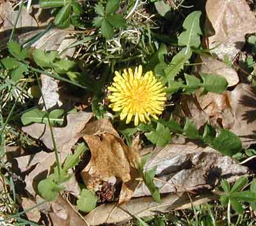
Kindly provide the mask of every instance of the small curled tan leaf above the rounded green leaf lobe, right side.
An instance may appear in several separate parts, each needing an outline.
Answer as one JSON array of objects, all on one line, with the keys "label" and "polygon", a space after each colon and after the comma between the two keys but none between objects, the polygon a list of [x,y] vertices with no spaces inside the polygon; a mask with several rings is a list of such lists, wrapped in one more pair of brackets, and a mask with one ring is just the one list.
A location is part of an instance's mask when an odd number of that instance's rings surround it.
[{"label": "small curled tan leaf above the rounded green leaf lobe, right side", "polygon": [[213,73],[215,75],[221,75],[228,82],[228,87],[235,86],[239,82],[239,77],[234,68],[230,68],[227,64],[214,59],[212,56],[201,54],[197,60],[198,63],[194,67],[196,73]]}]

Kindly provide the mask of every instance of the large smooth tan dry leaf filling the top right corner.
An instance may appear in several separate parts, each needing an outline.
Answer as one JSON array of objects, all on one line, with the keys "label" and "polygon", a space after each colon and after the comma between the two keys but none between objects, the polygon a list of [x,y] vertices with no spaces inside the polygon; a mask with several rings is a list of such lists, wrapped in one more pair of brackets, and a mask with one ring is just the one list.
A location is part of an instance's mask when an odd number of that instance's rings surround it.
[{"label": "large smooth tan dry leaf filling the top right corner", "polygon": [[244,46],[244,35],[256,31],[256,19],[246,0],[207,0],[205,30],[215,30],[209,37],[209,48],[220,59],[231,59]]}]

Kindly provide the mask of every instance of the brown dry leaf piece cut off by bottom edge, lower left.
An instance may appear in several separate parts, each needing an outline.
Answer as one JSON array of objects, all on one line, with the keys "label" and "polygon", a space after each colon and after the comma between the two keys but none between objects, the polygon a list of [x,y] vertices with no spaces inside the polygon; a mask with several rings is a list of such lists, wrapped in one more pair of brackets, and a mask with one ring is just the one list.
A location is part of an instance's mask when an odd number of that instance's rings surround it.
[{"label": "brown dry leaf piece cut off by bottom edge, lower left", "polygon": [[52,203],[52,210],[53,213],[49,215],[53,226],[89,226],[74,210],[74,207],[61,196]]}]

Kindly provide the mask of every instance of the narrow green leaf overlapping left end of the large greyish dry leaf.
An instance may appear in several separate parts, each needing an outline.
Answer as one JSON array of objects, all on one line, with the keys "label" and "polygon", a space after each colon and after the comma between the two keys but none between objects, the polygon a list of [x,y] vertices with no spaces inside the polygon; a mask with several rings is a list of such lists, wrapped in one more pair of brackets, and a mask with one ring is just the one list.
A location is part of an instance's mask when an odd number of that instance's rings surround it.
[{"label": "narrow green leaf overlapping left end of the large greyish dry leaf", "polygon": [[157,167],[154,167],[153,169],[150,169],[147,172],[145,172],[143,174],[143,181],[147,186],[148,190],[150,191],[153,199],[156,202],[161,202],[159,189],[154,185],[154,177],[156,175],[156,169]]}]

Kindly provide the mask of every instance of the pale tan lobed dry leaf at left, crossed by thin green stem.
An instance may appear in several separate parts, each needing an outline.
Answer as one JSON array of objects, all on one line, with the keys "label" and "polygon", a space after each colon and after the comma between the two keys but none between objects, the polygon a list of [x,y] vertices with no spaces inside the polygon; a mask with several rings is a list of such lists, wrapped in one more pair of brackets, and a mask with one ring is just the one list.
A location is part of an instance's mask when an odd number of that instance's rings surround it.
[{"label": "pale tan lobed dry leaf at left, crossed by thin green stem", "polygon": [[[63,162],[67,157],[67,154],[70,153],[70,149],[74,144],[76,144],[77,140],[80,138],[77,133],[83,130],[84,126],[88,121],[92,118],[92,113],[90,112],[78,112],[68,114],[67,116],[67,126],[63,128],[52,128],[54,133],[54,138],[56,141],[57,150],[60,157],[60,162]],[[28,133],[31,137],[35,139],[40,139],[44,142],[45,146],[49,149],[53,149],[54,146],[52,144],[51,132],[49,125],[34,123],[30,126],[22,127],[22,130]],[[36,195],[37,184],[40,180],[44,179],[47,176],[51,166],[55,163],[55,155],[54,153],[44,153],[40,152],[36,154],[37,161],[33,161],[29,163],[29,167],[36,165],[35,169],[33,169],[29,175],[25,178],[26,182],[26,190],[28,190],[31,195]],[[20,158],[27,158],[26,156],[22,156]],[[32,158],[33,159],[33,158]],[[19,161],[19,158],[17,158]],[[31,158],[30,158],[31,160]],[[29,160],[29,161],[30,161]],[[70,182],[70,181],[68,181]],[[75,181],[72,180],[72,183]],[[74,184],[76,185],[76,183]],[[70,189],[70,188],[69,188]]]}]

